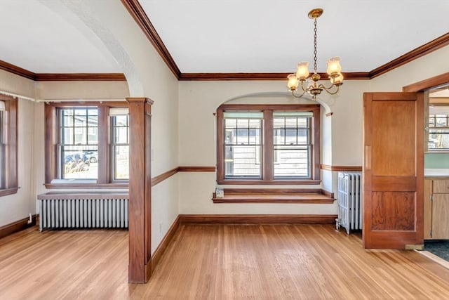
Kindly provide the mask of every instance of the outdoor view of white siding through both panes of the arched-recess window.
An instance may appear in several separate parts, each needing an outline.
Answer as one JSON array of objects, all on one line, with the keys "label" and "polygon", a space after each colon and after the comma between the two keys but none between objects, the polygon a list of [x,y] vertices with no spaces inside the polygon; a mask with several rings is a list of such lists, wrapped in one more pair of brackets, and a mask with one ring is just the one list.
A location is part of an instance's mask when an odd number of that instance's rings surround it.
[{"label": "outdoor view of white siding through both panes of the arched-recess window", "polygon": [[262,151],[273,151],[275,179],[311,176],[313,113],[273,112],[272,116],[273,148],[267,148],[262,143],[264,112],[223,112],[225,178],[261,178]]}]

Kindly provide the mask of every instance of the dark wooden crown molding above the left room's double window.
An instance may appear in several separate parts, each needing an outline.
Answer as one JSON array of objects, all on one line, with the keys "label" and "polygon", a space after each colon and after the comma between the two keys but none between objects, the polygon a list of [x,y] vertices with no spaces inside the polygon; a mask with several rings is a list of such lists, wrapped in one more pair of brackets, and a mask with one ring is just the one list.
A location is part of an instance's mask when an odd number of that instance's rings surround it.
[{"label": "dark wooden crown molding above the left room's double window", "polygon": [[34,81],[126,81],[122,73],[37,73]]}]

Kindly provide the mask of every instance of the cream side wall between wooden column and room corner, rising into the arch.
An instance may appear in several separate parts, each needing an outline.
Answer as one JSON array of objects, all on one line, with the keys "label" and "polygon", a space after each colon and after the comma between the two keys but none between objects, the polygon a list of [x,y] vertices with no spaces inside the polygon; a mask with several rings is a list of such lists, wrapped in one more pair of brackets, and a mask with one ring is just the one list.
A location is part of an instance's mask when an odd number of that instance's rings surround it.
[{"label": "cream side wall between wooden column and room corner, rising into the arch", "polygon": [[[152,105],[152,176],[178,166],[178,89],[177,79],[163,62],[135,20],[120,1],[84,1],[91,10],[91,18],[107,28],[109,41],[120,44],[133,67],[126,67],[126,76],[138,78],[142,94],[130,89],[131,97],[145,96]],[[87,10],[87,8],[86,8]],[[83,11],[86,13],[86,11]],[[92,24],[95,22],[92,22]],[[130,69],[135,74],[130,74]],[[124,70],[125,71],[125,70]],[[152,193],[152,252],[161,242],[178,214],[177,176],[154,186]],[[159,225],[162,223],[161,231]]]}]

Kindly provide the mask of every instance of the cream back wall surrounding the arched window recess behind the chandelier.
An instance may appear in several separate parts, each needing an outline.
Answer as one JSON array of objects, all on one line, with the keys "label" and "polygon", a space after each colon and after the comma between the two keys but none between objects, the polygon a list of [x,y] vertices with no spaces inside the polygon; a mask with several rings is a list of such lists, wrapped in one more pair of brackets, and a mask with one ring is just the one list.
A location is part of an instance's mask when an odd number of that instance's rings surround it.
[{"label": "cream back wall surrounding the arched window recess behind the chandelier", "polygon": [[[347,81],[337,96],[320,98],[323,164],[361,165],[361,113],[368,81]],[[215,116],[222,103],[306,103],[285,93],[286,81],[180,81],[180,165],[215,166]],[[259,95],[254,94],[259,93]],[[323,172],[326,190],[335,191],[332,172]],[[180,214],[335,214],[334,204],[213,204],[215,173],[180,174]],[[275,188],[270,186],[269,188]],[[277,186],[283,187],[284,186]],[[305,188],[305,186],[303,186]],[[295,186],[295,188],[298,188]]]}]

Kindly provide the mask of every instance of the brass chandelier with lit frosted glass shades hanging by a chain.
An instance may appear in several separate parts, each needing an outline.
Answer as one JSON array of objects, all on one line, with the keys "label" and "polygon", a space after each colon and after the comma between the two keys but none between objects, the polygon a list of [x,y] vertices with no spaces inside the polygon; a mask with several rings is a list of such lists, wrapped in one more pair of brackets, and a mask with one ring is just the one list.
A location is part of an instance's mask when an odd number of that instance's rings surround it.
[{"label": "brass chandelier with lit frosted glass shades hanging by a chain", "polygon": [[[292,92],[292,95],[296,98],[301,98],[305,93],[309,93],[313,100],[316,100],[316,96],[323,90],[335,95],[340,86],[343,84],[342,66],[340,65],[340,58],[334,57],[328,59],[327,73],[329,75],[330,86],[326,87],[323,84],[318,84],[321,78],[317,72],[316,67],[316,19],[323,14],[323,9],[315,8],[309,12],[309,18],[314,19],[314,74],[309,76],[309,62],[301,62],[297,64],[296,74],[288,75],[288,89]],[[299,94],[295,93],[297,87],[301,84],[302,91]]]}]

